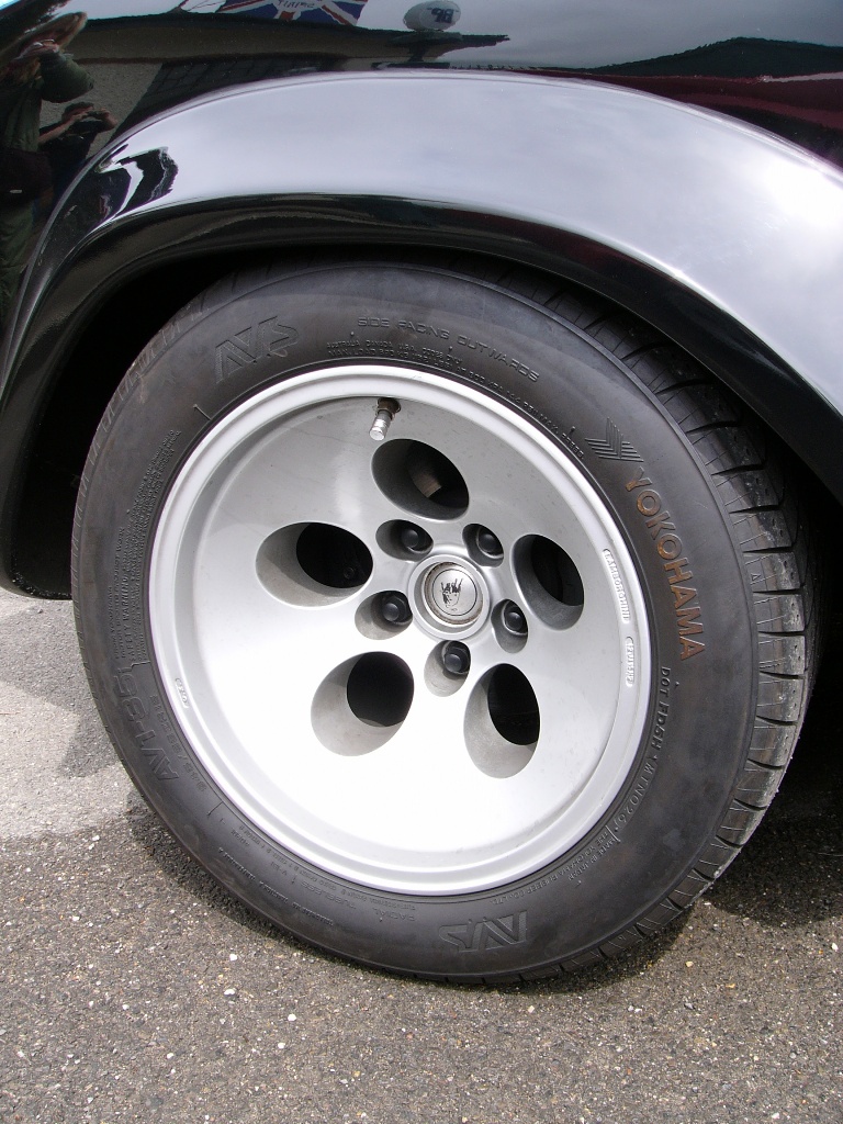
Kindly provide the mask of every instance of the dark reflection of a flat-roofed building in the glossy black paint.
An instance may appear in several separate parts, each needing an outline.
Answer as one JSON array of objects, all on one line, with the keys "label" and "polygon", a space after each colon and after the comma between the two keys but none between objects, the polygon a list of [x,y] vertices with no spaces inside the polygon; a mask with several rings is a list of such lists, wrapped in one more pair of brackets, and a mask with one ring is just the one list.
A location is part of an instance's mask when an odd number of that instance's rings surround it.
[{"label": "dark reflection of a flat-roofed building in the glossy black paint", "polygon": [[[443,65],[441,60],[452,51],[493,47],[507,38],[382,31],[305,19],[268,21],[245,15],[237,19],[236,35],[232,29],[230,20],[198,10],[98,19],[74,43],[74,55],[96,79],[93,97],[121,119],[119,128],[127,128],[151,112],[225,87],[315,72]],[[117,44],[119,58],[111,55]],[[109,65],[117,62],[119,72]],[[136,81],[129,90],[133,69]],[[110,88],[109,72],[118,74],[124,89]]]}]

